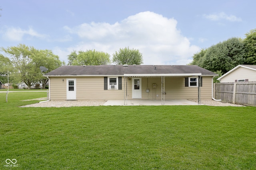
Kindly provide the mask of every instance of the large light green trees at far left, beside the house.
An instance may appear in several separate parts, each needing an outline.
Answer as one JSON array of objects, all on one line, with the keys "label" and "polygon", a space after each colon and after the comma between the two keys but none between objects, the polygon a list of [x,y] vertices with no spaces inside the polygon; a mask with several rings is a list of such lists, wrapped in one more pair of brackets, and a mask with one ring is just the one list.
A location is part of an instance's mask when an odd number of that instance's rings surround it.
[{"label": "large light green trees at far left, beside the house", "polygon": [[40,82],[45,88],[48,78],[43,77],[40,66],[45,66],[50,71],[64,63],[51,50],[38,50],[19,44],[16,47],[0,48],[5,56],[0,54],[0,81],[7,83],[7,73],[9,72],[9,82],[24,82],[28,89],[30,86]]}]

